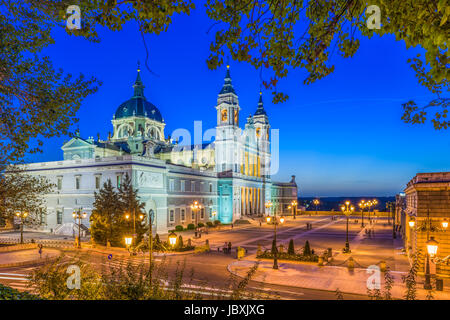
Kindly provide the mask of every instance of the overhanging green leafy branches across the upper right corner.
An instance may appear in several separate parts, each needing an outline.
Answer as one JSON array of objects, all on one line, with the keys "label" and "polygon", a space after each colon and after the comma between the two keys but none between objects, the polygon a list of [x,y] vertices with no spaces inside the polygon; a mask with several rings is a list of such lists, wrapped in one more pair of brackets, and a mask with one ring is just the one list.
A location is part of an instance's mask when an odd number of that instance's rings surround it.
[{"label": "overhanging green leafy branches across the upper right corner", "polygon": [[[368,28],[369,5],[380,9],[379,29]],[[408,63],[419,83],[436,94],[436,99],[424,107],[414,101],[403,104],[402,119],[424,123],[427,109],[434,108],[438,109],[432,119],[434,127],[446,129],[450,124],[446,120],[449,99],[442,96],[449,88],[450,10],[446,0],[208,0],[207,14],[215,21],[210,29],[217,29],[208,66],[222,65],[228,52],[234,60],[249,63],[260,70],[262,84],[273,90],[274,103],[288,98],[277,91],[277,84],[291,70],[308,72],[304,84],[322,79],[334,71],[330,58],[336,48],[344,58],[352,57],[361,37],[395,35],[407,48],[421,46],[425,55]]]}]

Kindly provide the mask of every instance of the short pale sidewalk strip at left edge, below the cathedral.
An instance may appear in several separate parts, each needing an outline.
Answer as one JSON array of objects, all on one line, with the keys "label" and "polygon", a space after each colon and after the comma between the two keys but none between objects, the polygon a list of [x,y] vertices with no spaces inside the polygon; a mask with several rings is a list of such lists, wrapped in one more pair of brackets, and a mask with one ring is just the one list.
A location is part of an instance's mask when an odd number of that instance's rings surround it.
[{"label": "short pale sidewalk strip at left edge, below the cathedral", "polygon": [[61,252],[56,249],[46,249],[42,251],[42,258],[39,256],[38,249],[21,250],[0,253],[0,268],[17,267],[26,264],[45,261],[59,256]]}]

